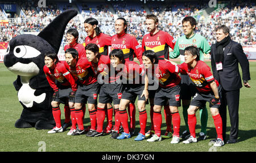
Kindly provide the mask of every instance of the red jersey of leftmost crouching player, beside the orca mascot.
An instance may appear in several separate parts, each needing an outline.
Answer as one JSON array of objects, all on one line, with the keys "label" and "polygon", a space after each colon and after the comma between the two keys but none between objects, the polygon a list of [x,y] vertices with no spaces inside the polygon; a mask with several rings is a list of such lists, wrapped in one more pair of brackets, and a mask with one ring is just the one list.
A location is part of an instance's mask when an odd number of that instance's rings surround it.
[{"label": "red jersey of leftmost crouching player, beside the orca mascot", "polygon": [[53,91],[59,89],[58,85],[64,85],[72,88],[72,91],[77,90],[76,81],[69,71],[65,68],[64,62],[57,62],[54,69],[48,68],[44,65],[44,74],[46,74],[46,79],[49,85],[52,87]]}]

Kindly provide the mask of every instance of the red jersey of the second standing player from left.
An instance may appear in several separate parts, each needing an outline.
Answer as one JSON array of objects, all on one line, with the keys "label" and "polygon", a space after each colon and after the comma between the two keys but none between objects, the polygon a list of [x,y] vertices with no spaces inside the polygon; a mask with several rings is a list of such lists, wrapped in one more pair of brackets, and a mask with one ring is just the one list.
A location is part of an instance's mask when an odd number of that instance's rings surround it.
[{"label": "red jersey of the second standing player from left", "polygon": [[89,43],[98,45],[101,55],[108,55],[108,48],[111,46],[111,36],[104,33],[100,33],[100,35],[93,38],[87,36],[83,45],[86,46]]}]

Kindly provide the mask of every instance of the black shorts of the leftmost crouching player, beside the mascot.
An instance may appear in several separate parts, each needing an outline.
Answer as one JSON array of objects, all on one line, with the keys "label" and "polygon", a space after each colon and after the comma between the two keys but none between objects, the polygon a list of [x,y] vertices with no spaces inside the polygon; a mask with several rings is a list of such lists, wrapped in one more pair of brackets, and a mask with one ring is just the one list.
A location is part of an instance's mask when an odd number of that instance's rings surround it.
[{"label": "black shorts of the leftmost crouching player, beside the mascot", "polygon": [[68,104],[68,102],[75,102],[69,101],[69,93],[72,92],[71,87],[65,87],[62,85],[59,85],[59,95],[55,98],[54,101],[60,102],[61,104]]}]

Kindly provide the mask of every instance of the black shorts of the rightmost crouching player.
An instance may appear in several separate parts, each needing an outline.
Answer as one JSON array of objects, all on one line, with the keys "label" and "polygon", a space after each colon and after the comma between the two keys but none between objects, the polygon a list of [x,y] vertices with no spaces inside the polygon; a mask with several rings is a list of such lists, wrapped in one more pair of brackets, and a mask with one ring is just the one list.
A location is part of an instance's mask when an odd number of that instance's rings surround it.
[{"label": "black shorts of the rightmost crouching player", "polygon": [[[220,85],[218,86],[218,95],[220,96],[220,100],[221,100],[221,86]],[[203,106],[205,106],[206,102],[210,101],[210,99],[213,97],[214,97],[214,93],[212,91],[210,91],[208,93],[197,91],[195,96],[193,96],[190,105],[198,106],[198,107],[202,108]],[[210,106],[210,108],[218,108],[219,109],[220,104],[215,104],[213,106]]]}]

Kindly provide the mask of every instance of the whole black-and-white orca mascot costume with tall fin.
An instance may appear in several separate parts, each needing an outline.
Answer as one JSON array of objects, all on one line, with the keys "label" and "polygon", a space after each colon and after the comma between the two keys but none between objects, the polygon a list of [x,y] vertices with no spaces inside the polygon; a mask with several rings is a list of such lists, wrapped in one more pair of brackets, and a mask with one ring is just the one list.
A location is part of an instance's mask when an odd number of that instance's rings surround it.
[{"label": "whole black-and-white orca mascot costume with tall fin", "polygon": [[65,28],[76,15],[77,10],[64,11],[38,36],[19,35],[10,40],[3,62],[11,72],[18,75],[13,85],[23,106],[15,127],[55,127],[51,106],[53,91],[43,71],[44,54],[59,52]]}]

